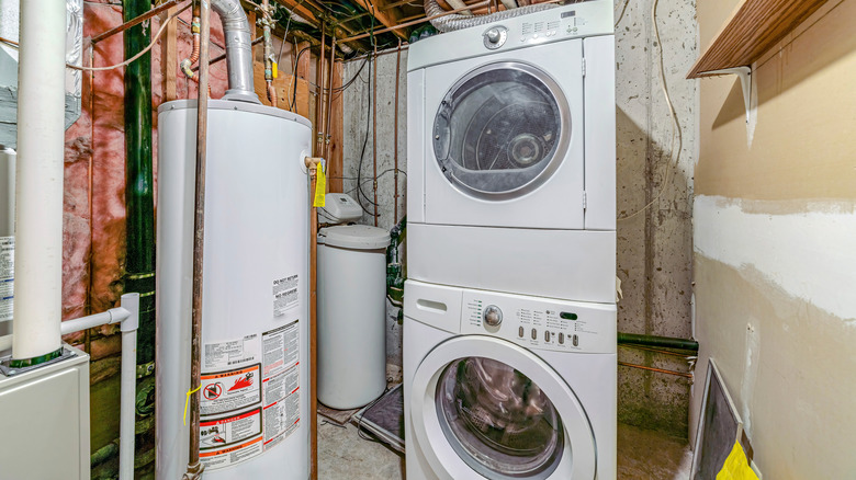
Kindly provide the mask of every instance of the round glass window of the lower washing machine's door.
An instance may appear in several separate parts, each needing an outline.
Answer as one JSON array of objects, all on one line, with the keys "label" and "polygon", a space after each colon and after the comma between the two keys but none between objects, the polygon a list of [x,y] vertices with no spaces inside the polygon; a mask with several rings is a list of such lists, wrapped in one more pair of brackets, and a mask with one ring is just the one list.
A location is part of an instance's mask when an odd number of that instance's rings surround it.
[{"label": "round glass window of the lower washing machine's door", "polygon": [[435,404],[447,441],[492,479],[543,479],[562,459],[562,420],[547,395],[519,370],[485,357],[449,364]]}]

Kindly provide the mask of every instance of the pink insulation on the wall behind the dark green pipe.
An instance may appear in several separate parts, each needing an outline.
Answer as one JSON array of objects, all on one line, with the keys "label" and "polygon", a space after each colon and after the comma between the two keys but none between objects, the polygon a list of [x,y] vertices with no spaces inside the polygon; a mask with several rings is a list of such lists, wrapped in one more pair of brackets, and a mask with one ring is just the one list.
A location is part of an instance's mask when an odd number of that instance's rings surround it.
[{"label": "pink insulation on the wall behind the dark green pipe", "polygon": [[[190,23],[191,12],[180,18]],[[89,65],[89,39],[122,23],[122,9],[106,3],[86,2],[83,7],[83,65]],[[160,20],[155,19],[150,28],[157,32]],[[211,56],[224,53],[223,28],[217,15],[211,18]],[[178,60],[190,56],[192,41],[187,24],[178,23]],[[97,67],[115,65],[124,60],[122,34],[116,34],[95,45]],[[195,98],[196,85],[178,76],[179,99]],[[213,98],[226,91],[225,61],[211,68]],[[87,313],[87,289],[90,284],[89,265],[92,262],[91,312],[104,311],[119,304],[123,292],[122,276],[125,262],[125,132],[123,69],[98,71],[94,75],[94,126],[90,111],[89,72],[83,73],[82,113],[66,132],[65,153],[65,207],[63,228],[63,317],[77,318]],[[155,121],[155,174],[157,175],[157,107],[162,101],[160,46],[151,49],[153,118]],[[94,132],[94,138],[92,136]],[[92,216],[89,218],[89,160],[93,162]],[[157,195],[156,195],[157,197]],[[90,222],[92,238],[90,238]],[[92,259],[89,258],[90,244]],[[109,334],[115,325],[103,327]],[[80,343],[82,333],[68,335],[67,341]]]}]

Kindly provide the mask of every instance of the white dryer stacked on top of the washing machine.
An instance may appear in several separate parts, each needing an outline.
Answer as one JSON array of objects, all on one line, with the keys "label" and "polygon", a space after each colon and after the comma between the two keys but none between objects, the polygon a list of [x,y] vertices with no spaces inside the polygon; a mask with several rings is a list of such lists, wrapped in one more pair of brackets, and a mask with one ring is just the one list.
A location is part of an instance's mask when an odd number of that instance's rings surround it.
[{"label": "white dryer stacked on top of the washing machine", "polygon": [[612,2],[414,43],[408,275],[615,301]]}]

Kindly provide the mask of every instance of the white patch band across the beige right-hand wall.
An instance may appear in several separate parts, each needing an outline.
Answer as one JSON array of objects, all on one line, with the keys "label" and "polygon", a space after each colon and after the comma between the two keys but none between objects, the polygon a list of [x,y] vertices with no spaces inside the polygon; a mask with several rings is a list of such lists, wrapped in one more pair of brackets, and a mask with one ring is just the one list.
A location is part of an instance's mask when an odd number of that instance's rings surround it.
[{"label": "white patch band across the beige right-hand wall", "polygon": [[788,294],[856,320],[856,296],[842,295],[856,284],[853,204],[808,205],[814,209],[784,213],[776,201],[698,195],[695,251],[733,267],[754,266]]}]

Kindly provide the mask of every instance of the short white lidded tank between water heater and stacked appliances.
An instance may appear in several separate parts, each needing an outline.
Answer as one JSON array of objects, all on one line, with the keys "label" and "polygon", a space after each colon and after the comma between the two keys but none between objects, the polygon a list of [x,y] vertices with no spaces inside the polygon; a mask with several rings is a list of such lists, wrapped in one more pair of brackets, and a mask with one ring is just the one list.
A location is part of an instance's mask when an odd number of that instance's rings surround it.
[{"label": "short white lidded tank between water heater and stacked appliances", "polygon": [[362,407],[386,388],[386,230],[318,233],[318,401]]}]

